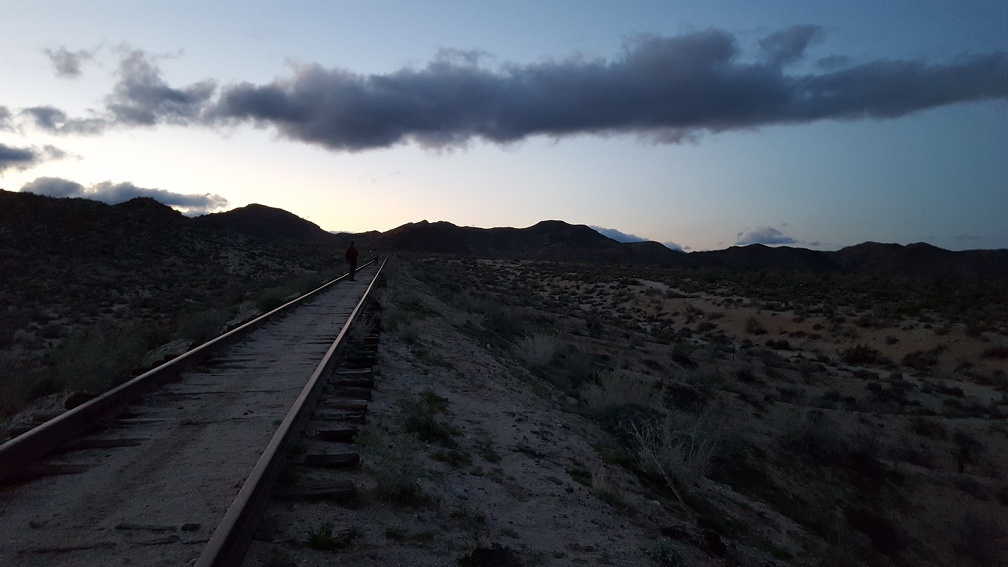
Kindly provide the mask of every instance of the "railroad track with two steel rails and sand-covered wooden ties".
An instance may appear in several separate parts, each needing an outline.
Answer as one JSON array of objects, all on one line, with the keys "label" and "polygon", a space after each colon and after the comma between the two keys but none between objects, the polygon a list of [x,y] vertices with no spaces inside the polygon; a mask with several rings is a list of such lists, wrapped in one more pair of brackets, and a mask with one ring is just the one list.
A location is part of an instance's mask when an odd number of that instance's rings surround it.
[{"label": "railroad track with two steel rails and sand-covered wooden ties", "polygon": [[[356,463],[380,271],[366,264],[0,446],[0,564],[240,564],[283,466]],[[287,450],[309,418],[340,449]]]}]

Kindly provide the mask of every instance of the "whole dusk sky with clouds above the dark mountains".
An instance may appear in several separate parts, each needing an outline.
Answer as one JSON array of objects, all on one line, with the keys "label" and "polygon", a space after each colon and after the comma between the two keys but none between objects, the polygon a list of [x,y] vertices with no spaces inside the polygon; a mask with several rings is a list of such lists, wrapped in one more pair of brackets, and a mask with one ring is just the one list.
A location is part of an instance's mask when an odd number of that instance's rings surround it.
[{"label": "whole dusk sky with clouds above the dark mountains", "polygon": [[1004,0],[0,0],[0,189],[1008,248]]}]

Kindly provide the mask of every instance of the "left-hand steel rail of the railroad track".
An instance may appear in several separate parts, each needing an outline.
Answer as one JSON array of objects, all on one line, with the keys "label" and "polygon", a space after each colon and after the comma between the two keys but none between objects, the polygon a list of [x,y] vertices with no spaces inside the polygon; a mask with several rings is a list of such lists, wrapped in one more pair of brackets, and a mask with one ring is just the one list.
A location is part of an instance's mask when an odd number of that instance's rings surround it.
[{"label": "left-hand steel rail of the railroad track", "polygon": [[[372,259],[359,267],[365,267],[374,263]],[[383,262],[384,265],[384,262]],[[379,271],[381,271],[379,269]],[[220,337],[212,339],[202,345],[181,354],[159,366],[140,374],[139,376],[123,382],[122,384],[94,398],[73,410],[69,410],[59,416],[27,431],[0,445],[0,483],[4,479],[24,470],[29,465],[38,461],[46,454],[58,449],[81,437],[96,424],[107,420],[121,413],[130,403],[137,398],[150,391],[154,387],[167,382],[178,375],[179,372],[190,368],[205,360],[211,353],[224,348],[237,339],[244,337],[249,332],[259,327],[274,315],[306,301],[308,298],[321,293],[330,286],[347,279],[349,273],[345,273],[331,281],[323,284],[319,288],[291,300],[280,307],[273,309],[255,319],[248,321]],[[373,282],[372,282],[373,284]],[[370,291],[370,287],[368,288]],[[366,294],[365,294],[366,295]]]}]

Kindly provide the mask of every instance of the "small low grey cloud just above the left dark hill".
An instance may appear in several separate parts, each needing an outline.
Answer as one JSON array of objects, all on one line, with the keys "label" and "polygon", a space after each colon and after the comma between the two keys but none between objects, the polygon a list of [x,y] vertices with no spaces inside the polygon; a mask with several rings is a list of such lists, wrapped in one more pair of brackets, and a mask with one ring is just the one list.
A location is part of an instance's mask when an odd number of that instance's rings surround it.
[{"label": "small low grey cloud just above the left dark hill", "polygon": [[75,197],[92,199],[110,205],[125,203],[137,197],[149,197],[163,205],[167,205],[188,216],[204,215],[228,205],[228,200],[220,195],[205,193],[202,195],[186,195],[171,193],[163,189],[144,189],[131,183],[102,182],[86,188],[83,185],[59,178],[38,178],[24,184],[21,191],[44,195],[47,197]]}]

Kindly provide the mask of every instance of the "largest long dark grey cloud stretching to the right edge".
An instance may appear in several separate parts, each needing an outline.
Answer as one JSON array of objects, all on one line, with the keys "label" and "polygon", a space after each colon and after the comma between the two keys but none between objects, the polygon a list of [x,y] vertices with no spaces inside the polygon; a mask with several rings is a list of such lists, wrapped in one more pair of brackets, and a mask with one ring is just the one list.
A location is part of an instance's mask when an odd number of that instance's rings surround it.
[{"label": "largest long dark grey cloud stretching to the right edge", "polygon": [[292,78],[226,87],[209,121],[252,121],[291,139],[358,151],[415,142],[508,143],[533,135],[636,133],[659,142],[704,132],[822,119],[896,117],[946,104],[1008,98],[1008,54],[932,65],[876,62],[788,75],[820,28],[764,41],[770,63],[746,63],[735,38],[712,29],[640,36],[612,60],[490,70],[479,58],[360,75],[305,66]]}]

